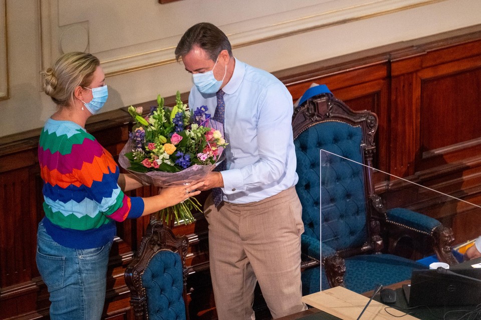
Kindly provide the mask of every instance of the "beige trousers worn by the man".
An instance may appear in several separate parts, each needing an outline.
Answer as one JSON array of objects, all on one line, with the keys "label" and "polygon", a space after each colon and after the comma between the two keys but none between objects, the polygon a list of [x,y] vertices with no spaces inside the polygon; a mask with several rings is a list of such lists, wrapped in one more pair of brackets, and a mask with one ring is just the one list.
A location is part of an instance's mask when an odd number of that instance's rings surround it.
[{"label": "beige trousers worn by the man", "polygon": [[301,287],[301,202],[291,187],[248,204],[205,202],[219,320],[254,318],[256,281],[274,318],[306,309]]}]

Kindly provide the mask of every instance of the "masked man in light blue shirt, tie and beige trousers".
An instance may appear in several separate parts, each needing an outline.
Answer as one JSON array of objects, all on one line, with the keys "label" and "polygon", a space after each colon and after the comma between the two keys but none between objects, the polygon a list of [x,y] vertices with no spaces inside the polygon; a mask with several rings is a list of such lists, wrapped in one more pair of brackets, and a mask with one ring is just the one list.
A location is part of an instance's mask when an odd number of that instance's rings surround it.
[{"label": "masked man in light blue shirt, tie and beige trousers", "polygon": [[200,188],[212,189],[204,214],[219,319],[251,319],[256,280],[274,318],[304,310],[291,94],[269,72],[233,57],[213,24],[190,27],[175,55],[192,73],[190,109],[206,105],[229,143],[221,169]]}]

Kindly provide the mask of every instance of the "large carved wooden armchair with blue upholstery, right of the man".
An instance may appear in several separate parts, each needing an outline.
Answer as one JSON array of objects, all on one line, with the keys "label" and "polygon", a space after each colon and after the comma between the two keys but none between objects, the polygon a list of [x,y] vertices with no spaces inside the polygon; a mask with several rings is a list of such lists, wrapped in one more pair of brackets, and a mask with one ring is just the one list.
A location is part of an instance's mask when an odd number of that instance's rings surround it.
[{"label": "large carved wooden armchair with blue upholstery, right of the man", "polygon": [[[319,262],[303,270],[303,294],[319,291],[320,280],[323,289],[342,285],[366,292],[378,283],[409,279],[415,268],[427,268],[413,259],[390,254],[402,251],[396,247],[405,243],[397,241],[401,237],[412,240],[413,250],[435,252],[439,261],[457,263],[451,253],[454,239],[450,228],[405,208],[383,208],[382,198],[374,192],[371,169],[377,123],[376,114],[353,111],[330,92],[304,99],[294,112],[296,189],[305,227],[303,259],[304,264]],[[332,156],[327,162],[334,163],[324,167],[320,149],[368,166],[354,167],[344,162],[348,160]]]}]

